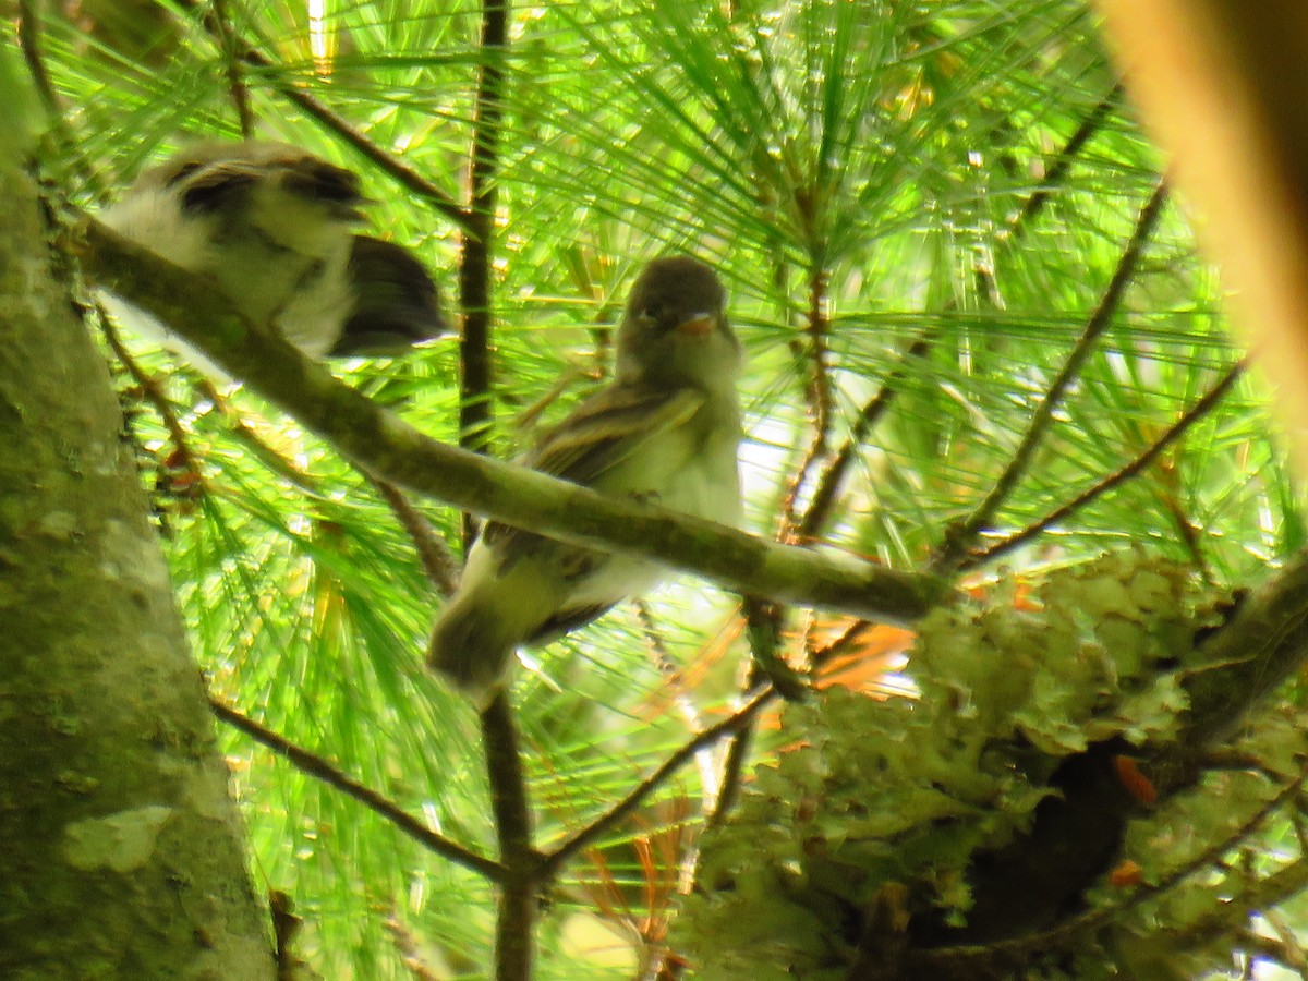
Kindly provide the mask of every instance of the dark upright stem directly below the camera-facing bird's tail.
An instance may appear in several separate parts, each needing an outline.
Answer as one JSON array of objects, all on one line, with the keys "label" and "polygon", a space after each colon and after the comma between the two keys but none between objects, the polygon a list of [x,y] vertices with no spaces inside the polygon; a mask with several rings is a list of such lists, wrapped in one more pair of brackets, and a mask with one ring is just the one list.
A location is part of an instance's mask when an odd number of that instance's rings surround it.
[{"label": "dark upright stem directly below the camera-facing bird's tail", "polygon": [[496,921],[496,981],[527,981],[535,954],[538,893],[545,878],[540,855],[531,844],[527,778],[513,708],[504,692],[481,713],[481,740],[504,867]]}]

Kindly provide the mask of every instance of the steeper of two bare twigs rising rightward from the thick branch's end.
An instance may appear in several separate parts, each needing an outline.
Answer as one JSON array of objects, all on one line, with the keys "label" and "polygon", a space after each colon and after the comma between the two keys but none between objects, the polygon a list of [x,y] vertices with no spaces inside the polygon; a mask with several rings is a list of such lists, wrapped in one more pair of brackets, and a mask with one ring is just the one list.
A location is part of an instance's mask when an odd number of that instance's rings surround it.
[{"label": "steeper of two bare twigs rising rightward from the thick branch's end", "polygon": [[985,496],[985,500],[976,506],[968,518],[947,532],[946,540],[931,564],[934,572],[943,574],[956,570],[959,560],[963,559],[968,551],[971,551],[972,543],[981,534],[981,531],[990,526],[995,513],[1022,480],[1031,463],[1031,458],[1035,455],[1036,449],[1049,432],[1054,409],[1062,402],[1063,395],[1080,373],[1080,369],[1086,365],[1086,361],[1093,351],[1095,343],[1099,340],[1100,335],[1108,330],[1113,317],[1117,314],[1117,309],[1126,293],[1126,288],[1135,276],[1135,269],[1139,266],[1144,243],[1148,241],[1154,228],[1158,225],[1165,203],[1167,184],[1160,181],[1155,186],[1154,192],[1150,195],[1148,201],[1141,209],[1139,217],[1135,221],[1135,229],[1131,233],[1130,241],[1126,243],[1126,249],[1122,251],[1122,258],[1118,260],[1117,268],[1113,271],[1113,276],[1099,301],[1099,306],[1086,322],[1086,328],[1082,331],[1076,345],[1067,356],[1066,362],[1054,377],[1053,382],[1050,382],[1049,388],[1045,391],[1040,404],[1036,407],[1035,412],[1032,412],[1031,424],[1027,426],[1027,432],[1018,443],[1018,449],[1014,451],[1012,459],[995,480],[994,487],[990,489],[990,493]]}]

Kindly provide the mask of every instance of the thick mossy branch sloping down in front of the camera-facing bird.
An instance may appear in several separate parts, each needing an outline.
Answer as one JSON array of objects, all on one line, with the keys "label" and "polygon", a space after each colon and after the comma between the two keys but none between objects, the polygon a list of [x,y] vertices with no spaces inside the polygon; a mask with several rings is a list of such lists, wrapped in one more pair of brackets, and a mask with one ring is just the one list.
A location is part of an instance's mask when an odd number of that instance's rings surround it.
[{"label": "thick mossy branch sloping down in front of the camera-facing bird", "polygon": [[714,522],[439,443],[258,327],[203,277],[86,217],[65,239],[95,284],[171,324],[251,388],[374,475],[514,527],[654,559],[752,595],[906,624],[952,590],[829,549],[781,545]]}]

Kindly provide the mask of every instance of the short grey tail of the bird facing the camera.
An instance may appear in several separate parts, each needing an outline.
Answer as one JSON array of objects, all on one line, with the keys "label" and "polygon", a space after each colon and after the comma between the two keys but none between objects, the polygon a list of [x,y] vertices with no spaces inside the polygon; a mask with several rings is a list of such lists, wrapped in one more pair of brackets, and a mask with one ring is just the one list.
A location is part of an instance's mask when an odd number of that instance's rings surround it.
[{"label": "short grey tail of the bird facing the camera", "polygon": [[426,663],[484,709],[509,680],[519,640],[497,604],[460,594],[432,629]]}]

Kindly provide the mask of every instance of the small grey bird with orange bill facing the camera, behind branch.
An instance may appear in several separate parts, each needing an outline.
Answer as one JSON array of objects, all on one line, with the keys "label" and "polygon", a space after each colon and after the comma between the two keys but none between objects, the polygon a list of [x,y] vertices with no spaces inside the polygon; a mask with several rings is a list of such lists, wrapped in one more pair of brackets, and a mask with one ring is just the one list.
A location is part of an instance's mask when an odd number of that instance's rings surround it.
[{"label": "small grey bird with orange bill facing the camera, behind branch", "polygon": [[[742,356],[725,303],[708,266],[687,256],[650,263],[617,331],[616,378],[519,462],[608,494],[738,523]],[[428,663],[485,708],[519,645],[587,624],[664,574],[646,559],[490,522],[436,623]]]}]

